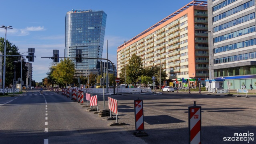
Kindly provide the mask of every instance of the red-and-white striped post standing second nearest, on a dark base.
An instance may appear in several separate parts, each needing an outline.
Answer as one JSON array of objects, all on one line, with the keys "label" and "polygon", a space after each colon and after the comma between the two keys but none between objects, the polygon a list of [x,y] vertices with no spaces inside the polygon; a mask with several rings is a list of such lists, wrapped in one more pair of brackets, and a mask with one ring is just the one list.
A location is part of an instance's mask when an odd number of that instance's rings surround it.
[{"label": "red-and-white striped post standing second nearest, on a dark base", "polygon": [[143,101],[134,100],[135,130],[144,130]]}]

